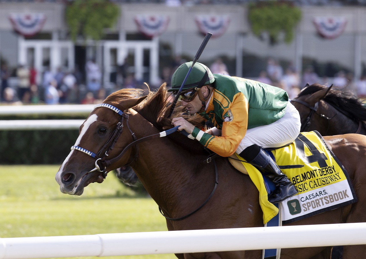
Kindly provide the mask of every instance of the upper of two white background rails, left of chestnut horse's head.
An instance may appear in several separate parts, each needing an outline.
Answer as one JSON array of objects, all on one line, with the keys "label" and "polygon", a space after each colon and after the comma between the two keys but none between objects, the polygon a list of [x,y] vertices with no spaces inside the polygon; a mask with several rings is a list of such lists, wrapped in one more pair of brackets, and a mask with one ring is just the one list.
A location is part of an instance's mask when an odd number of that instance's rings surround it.
[{"label": "upper of two white background rails, left of chestnut horse's head", "polygon": [[0,115],[90,113],[94,104],[0,105]]}]

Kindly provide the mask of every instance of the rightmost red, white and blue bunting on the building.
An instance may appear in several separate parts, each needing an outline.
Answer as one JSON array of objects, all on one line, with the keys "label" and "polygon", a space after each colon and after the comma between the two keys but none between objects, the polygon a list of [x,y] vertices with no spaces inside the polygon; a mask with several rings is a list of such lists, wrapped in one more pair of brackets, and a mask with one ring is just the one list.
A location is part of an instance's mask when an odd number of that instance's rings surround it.
[{"label": "rightmost red, white and blue bunting on the building", "polygon": [[344,17],[315,17],[314,25],[318,34],[326,39],[335,39],[339,37],[346,28],[347,19]]}]

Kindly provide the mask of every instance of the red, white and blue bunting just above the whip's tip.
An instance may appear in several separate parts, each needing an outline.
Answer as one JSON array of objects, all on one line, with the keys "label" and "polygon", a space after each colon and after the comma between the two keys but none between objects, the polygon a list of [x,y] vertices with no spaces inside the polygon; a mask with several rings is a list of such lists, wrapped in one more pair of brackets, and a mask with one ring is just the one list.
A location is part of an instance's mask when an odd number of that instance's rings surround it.
[{"label": "red, white and blue bunting just above the whip's tip", "polygon": [[203,35],[210,32],[213,38],[223,35],[230,23],[227,15],[197,15],[195,20],[199,31]]}]

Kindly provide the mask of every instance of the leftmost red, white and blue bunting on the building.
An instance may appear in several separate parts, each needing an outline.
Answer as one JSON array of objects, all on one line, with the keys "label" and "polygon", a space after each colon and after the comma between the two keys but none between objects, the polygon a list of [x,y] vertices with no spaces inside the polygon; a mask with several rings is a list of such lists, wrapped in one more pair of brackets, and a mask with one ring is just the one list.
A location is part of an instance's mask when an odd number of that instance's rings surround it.
[{"label": "leftmost red, white and blue bunting on the building", "polygon": [[46,22],[44,14],[10,14],[10,22],[18,33],[25,37],[36,35]]}]

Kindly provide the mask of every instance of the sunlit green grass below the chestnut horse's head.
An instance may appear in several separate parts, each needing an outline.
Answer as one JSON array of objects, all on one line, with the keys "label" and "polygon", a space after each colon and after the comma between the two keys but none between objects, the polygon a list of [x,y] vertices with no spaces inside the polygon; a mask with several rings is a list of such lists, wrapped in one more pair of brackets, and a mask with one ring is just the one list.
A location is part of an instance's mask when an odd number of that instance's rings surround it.
[{"label": "sunlit green grass below the chestnut horse's head", "polygon": [[[67,236],[166,231],[151,198],[139,197],[110,173],[81,196],[62,194],[55,181],[59,166],[0,166],[0,237]],[[97,258],[97,257],[80,257]],[[174,255],[105,258],[175,258]]]}]

